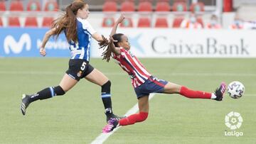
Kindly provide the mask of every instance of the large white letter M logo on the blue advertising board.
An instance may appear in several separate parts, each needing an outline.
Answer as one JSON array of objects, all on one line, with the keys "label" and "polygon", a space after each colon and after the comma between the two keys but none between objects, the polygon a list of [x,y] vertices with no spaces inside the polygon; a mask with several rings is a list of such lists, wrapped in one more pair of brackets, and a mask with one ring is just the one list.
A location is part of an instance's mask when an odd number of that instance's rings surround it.
[{"label": "large white letter M logo on the blue advertising board", "polygon": [[31,50],[31,38],[28,33],[23,33],[18,43],[13,36],[7,35],[6,38],[4,38],[4,52],[9,54],[11,49],[12,52],[18,54],[22,51],[24,44],[26,44],[26,50]]}]

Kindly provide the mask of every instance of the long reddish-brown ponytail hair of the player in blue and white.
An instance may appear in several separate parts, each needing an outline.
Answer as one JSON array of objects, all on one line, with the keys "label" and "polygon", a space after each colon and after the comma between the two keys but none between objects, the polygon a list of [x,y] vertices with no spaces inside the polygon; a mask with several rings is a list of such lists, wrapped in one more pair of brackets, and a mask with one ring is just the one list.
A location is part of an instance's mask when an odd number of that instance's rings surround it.
[{"label": "long reddish-brown ponytail hair of the player in blue and white", "polygon": [[76,14],[78,13],[78,9],[82,9],[86,4],[83,0],[73,1],[73,3],[66,7],[65,14],[53,21],[51,28],[55,28],[53,35],[56,35],[56,38],[65,30],[68,41],[78,41]]}]

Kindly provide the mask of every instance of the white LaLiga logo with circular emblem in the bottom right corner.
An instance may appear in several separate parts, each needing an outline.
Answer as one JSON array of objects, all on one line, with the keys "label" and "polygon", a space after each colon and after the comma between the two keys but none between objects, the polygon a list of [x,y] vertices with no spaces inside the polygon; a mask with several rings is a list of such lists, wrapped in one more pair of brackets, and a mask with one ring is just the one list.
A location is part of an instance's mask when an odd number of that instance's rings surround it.
[{"label": "white LaLiga logo with circular emblem in the bottom right corner", "polygon": [[241,136],[242,132],[235,131],[242,126],[242,116],[240,113],[231,111],[225,116],[225,126],[228,126],[231,131],[225,131],[225,135],[227,136]]}]

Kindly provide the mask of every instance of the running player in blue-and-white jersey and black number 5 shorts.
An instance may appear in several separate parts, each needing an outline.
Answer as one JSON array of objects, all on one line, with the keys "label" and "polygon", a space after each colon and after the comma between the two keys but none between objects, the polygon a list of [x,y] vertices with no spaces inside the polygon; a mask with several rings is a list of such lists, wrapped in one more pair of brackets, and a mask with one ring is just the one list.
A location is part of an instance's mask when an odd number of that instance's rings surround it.
[{"label": "running player in blue-and-white jersey and black number 5 shorts", "polygon": [[85,78],[89,82],[102,87],[101,97],[105,106],[107,121],[110,120],[110,118],[118,118],[112,112],[110,80],[102,74],[102,72],[89,64],[91,38],[94,38],[98,42],[102,42],[103,40],[102,36],[97,33],[86,20],[89,14],[89,6],[85,1],[73,1],[73,3],[65,9],[65,15],[57,18],[53,22],[51,29],[44,35],[43,43],[40,48],[40,54],[42,56],[46,56],[45,46],[50,36],[56,35],[58,37],[60,33],[65,33],[71,51],[69,68],[58,86],[48,87],[36,94],[23,94],[21,103],[21,112],[23,115],[26,114],[26,109],[31,102],[38,99],[43,100],[53,96],[63,95],[74,87],[80,79]]}]

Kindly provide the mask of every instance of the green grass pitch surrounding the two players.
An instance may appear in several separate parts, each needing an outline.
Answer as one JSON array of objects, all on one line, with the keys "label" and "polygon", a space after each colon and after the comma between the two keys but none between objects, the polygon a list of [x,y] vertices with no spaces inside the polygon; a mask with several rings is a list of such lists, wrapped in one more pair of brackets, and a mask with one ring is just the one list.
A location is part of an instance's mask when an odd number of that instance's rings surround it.
[{"label": "green grass pitch surrounding the two players", "polygon": [[[119,128],[105,143],[256,143],[256,59],[141,59],[159,79],[191,89],[213,92],[220,82],[238,80],[245,95],[223,101],[187,99],[178,94],[156,94],[143,123]],[[114,113],[122,115],[137,103],[130,79],[113,61],[90,63],[112,82]],[[0,143],[91,143],[105,126],[100,87],[85,79],[65,96],[36,101],[26,116],[21,94],[57,86],[68,68],[64,58],[0,59]],[[226,136],[225,115],[237,111],[243,118]]]}]

